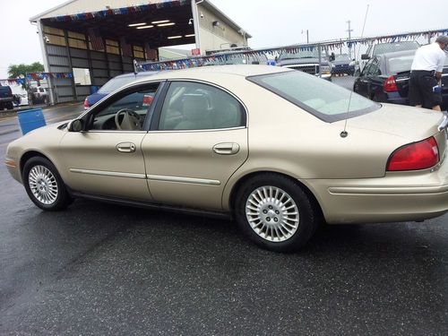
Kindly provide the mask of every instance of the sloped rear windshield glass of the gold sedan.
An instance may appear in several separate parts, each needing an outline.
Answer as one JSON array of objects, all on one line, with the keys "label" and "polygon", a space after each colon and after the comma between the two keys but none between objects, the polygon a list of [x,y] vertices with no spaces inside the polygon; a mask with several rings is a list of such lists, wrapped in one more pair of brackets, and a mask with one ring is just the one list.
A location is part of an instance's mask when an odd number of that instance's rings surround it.
[{"label": "sloped rear windshield glass of the gold sedan", "polygon": [[247,77],[325,122],[364,115],[381,108],[372,100],[308,73],[284,73]]}]

